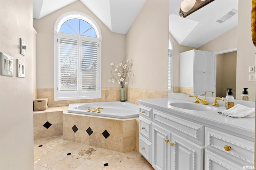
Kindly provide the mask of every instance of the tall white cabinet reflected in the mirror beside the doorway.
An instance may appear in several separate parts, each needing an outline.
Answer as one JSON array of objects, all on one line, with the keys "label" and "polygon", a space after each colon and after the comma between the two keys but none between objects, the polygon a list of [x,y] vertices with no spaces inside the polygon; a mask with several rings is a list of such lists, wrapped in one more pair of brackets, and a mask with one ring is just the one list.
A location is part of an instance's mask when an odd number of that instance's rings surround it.
[{"label": "tall white cabinet reflected in the mirror beside the doorway", "polygon": [[180,90],[193,95],[212,97],[214,92],[214,57],[212,52],[190,50],[180,53]]}]

